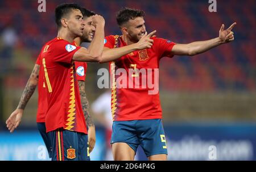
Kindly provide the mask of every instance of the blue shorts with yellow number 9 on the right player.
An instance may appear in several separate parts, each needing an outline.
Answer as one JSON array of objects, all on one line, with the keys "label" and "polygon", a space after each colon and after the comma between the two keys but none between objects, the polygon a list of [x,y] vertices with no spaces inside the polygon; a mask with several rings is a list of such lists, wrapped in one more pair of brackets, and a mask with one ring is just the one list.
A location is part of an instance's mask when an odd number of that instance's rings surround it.
[{"label": "blue shorts with yellow number 9 on the right player", "polygon": [[141,145],[147,157],[167,154],[162,119],[114,121],[110,144],[127,143],[136,153]]}]

